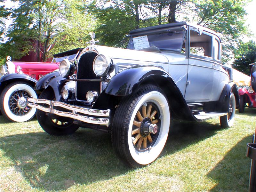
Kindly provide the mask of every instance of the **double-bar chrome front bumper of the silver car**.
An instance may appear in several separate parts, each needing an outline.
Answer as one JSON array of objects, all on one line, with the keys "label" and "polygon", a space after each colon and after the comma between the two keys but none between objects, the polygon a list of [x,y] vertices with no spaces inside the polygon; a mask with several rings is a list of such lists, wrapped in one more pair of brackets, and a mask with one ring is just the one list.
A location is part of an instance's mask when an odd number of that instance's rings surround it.
[{"label": "double-bar chrome front bumper of the silver car", "polygon": [[[49,107],[41,106],[40,104],[49,105]],[[99,124],[99,125],[109,125],[109,114],[110,109],[108,110],[99,110],[99,109],[89,109],[83,108],[75,105],[69,105],[67,103],[63,103],[60,101],[51,101],[47,99],[35,99],[35,98],[28,98],[28,107],[33,107],[44,111],[46,113],[52,113],[62,117],[69,117],[72,119],[76,119],[85,123],[91,124]],[[60,111],[54,109],[54,107],[61,107],[67,110],[71,110],[72,112]],[[80,115],[77,113],[81,113],[84,115]],[[89,116],[96,116],[96,117],[89,117]],[[105,118],[102,118],[105,117]]]}]

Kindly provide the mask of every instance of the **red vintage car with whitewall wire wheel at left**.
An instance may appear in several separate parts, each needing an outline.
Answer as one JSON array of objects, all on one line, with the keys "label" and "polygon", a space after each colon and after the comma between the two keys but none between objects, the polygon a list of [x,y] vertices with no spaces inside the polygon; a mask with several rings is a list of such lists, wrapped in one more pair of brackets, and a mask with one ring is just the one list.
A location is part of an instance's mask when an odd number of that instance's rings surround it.
[{"label": "red vintage car with whitewall wire wheel at left", "polygon": [[0,109],[4,117],[13,122],[28,121],[36,113],[36,109],[24,105],[20,98],[34,97],[40,92],[34,91],[39,78],[59,68],[63,59],[77,58],[82,48],[53,55],[51,63],[47,62],[15,62],[7,57],[5,65],[1,66],[0,78]]}]

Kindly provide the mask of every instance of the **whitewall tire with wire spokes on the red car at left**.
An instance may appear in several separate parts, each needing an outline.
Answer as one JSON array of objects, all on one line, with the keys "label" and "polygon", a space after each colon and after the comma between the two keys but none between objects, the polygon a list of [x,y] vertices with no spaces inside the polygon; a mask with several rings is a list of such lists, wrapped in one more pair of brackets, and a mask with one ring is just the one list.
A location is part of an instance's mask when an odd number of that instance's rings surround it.
[{"label": "whitewall tire with wire spokes on the red car at left", "polygon": [[25,122],[35,116],[36,108],[19,108],[19,98],[37,98],[36,92],[31,85],[25,82],[14,82],[7,85],[1,93],[0,105],[4,117],[12,122]]}]

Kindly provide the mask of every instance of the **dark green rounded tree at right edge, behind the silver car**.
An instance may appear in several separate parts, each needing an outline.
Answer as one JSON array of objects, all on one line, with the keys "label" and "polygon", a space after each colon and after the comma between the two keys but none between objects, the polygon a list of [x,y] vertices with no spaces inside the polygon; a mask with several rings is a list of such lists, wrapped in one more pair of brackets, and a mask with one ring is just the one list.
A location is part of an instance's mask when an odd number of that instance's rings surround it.
[{"label": "dark green rounded tree at right edge, behind the silver car", "polygon": [[234,54],[235,61],[232,67],[250,76],[251,67],[249,64],[256,62],[256,43],[252,40],[246,43],[242,42],[234,51]]}]

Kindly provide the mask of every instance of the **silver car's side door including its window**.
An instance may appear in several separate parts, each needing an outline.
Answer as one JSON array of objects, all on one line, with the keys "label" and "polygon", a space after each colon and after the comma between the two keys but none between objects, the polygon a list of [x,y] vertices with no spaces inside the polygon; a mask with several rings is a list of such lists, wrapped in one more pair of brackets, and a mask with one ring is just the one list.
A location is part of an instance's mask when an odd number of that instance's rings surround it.
[{"label": "silver car's side door including its window", "polygon": [[212,35],[189,26],[188,80],[185,100],[187,102],[211,101],[213,76]]}]

